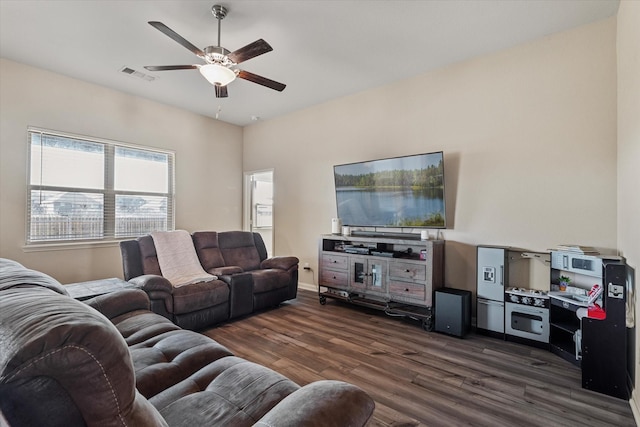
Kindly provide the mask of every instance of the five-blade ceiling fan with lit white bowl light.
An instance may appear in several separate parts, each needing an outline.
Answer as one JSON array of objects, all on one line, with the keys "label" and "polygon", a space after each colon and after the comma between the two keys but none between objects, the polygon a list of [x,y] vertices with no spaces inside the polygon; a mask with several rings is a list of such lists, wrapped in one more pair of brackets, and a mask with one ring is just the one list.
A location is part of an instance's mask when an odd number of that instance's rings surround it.
[{"label": "five-blade ceiling fan with lit white bowl light", "polygon": [[169,70],[200,70],[200,73],[207,79],[216,90],[216,98],[226,98],[228,96],[227,85],[234,81],[236,77],[248,80],[253,83],[268,87],[270,89],[282,92],[286,87],[285,84],[276,82],[266,77],[250,73],[249,71],[235,68],[236,65],[247,61],[256,56],[262,55],[273,50],[273,48],[263,39],[256,40],[253,43],[241,47],[233,52],[228,51],[220,45],[220,21],[227,16],[227,8],[221,5],[214,5],[211,13],[218,20],[218,45],[207,46],[204,50],[198,49],[196,46],[187,41],[180,34],[164,25],[162,22],[149,21],[149,24],[161,31],[166,36],[176,41],[178,44],[189,49],[206,64],[194,65],[147,65],[149,71],[169,71]]}]

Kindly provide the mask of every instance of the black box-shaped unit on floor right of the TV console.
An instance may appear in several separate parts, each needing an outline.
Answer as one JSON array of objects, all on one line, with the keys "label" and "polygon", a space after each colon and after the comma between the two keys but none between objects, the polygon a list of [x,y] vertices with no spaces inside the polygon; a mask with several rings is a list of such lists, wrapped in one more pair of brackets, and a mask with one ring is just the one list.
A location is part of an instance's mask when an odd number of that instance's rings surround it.
[{"label": "black box-shaped unit on floor right of the TV console", "polygon": [[471,330],[471,292],[442,288],[435,297],[436,332],[464,337]]}]

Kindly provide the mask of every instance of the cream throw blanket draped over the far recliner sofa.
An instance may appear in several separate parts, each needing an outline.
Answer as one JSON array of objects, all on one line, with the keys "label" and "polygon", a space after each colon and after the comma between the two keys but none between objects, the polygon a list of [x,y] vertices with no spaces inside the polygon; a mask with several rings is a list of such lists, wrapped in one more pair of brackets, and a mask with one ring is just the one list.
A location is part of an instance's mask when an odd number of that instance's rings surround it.
[{"label": "cream throw blanket draped over the far recliner sofa", "polygon": [[151,237],[156,247],[162,276],[174,287],[217,279],[202,268],[188,232],[154,231]]}]

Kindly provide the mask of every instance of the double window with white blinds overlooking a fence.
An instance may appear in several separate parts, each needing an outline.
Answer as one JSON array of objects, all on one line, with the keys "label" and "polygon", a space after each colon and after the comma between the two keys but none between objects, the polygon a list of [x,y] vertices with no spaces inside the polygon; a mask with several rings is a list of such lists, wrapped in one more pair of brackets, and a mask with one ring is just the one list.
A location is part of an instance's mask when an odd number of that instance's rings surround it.
[{"label": "double window with white blinds overlooking a fence", "polygon": [[28,129],[27,244],[173,230],[171,152]]}]

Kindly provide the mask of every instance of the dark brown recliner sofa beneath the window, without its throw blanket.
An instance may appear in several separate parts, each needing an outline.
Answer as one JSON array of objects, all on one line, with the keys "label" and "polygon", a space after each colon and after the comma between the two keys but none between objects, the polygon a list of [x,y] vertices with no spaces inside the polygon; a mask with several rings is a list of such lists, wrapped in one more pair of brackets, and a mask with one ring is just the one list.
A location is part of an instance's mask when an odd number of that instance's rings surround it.
[{"label": "dark brown recliner sofa beneath the window, without its throw blanket", "polygon": [[151,236],[120,242],[124,279],[177,325],[201,329],[296,297],[298,258],[268,258],[260,234],[199,231],[192,239],[203,269],[217,280],[174,287],[162,277]]}]

